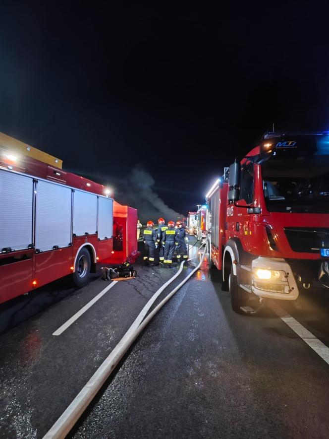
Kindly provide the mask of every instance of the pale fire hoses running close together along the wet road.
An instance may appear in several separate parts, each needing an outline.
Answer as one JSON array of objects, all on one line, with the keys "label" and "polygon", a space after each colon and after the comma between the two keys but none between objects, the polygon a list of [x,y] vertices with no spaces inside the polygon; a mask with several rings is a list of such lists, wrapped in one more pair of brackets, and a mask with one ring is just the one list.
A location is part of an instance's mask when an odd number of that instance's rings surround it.
[{"label": "pale fire hoses running close together along the wet road", "polygon": [[[70,430],[74,427],[80,416],[86,410],[88,405],[94,399],[98,391],[101,389],[105,381],[109,378],[115,367],[118,365],[122,357],[125,355],[127,350],[145,328],[145,326],[150,322],[150,320],[154,317],[155,314],[164,306],[164,304],[173,296],[176,291],[181,288],[185,282],[200,268],[206,252],[207,252],[208,244],[205,247],[202,258],[199,264],[187,275],[187,277],[174,288],[168,296],[144,319],[145,315],[150,310],[151,306],[155,302],[155,300],[159,297],[159,295],[164,291],[164,289],[182,272],[184,261],[181,262],[180,267],[159,290],[152,296],[152,298],[145,305],[143,310],[138,314],[137,318],[130,326],[128,331],[119,341],[119,343],[112,350],[108,358],[102,363],[102,365],[97,369],[94,375],[89,379],[87,384],[80,390],[78,395],[73,399],[70,405],[66,408],[66,410],[62,413],[62,415],[57,419],[53,427],[46,433],[44,439],[61,439],[65,438],[65,436],[70,432]],[[143,320],[144,319],[144,320]]]}]

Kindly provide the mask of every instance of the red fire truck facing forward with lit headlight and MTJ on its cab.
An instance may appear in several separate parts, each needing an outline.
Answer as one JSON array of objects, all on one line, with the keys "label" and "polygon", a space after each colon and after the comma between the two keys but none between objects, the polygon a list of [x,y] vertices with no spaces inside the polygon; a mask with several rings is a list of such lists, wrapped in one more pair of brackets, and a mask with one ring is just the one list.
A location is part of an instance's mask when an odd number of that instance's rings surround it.
[{"label": "red fire truck facing forward with lit headlight and MTJ on its cab", "polygon": [[265,134],[224,169],[206,199],[211,264],[235,312],[329,288],[328,132]]}]

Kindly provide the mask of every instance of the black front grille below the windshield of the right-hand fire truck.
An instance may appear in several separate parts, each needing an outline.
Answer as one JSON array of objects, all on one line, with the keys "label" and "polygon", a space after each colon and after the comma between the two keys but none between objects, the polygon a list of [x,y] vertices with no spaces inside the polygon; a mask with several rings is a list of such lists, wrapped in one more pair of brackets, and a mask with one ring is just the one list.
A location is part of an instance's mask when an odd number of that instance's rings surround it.
[{"label": "black front grille below the windshield of the right-hand fire truck", "polygon": [[286,227],[285,235],[293,251],[319,253],[329,248],[329,229],[326,227]]}]

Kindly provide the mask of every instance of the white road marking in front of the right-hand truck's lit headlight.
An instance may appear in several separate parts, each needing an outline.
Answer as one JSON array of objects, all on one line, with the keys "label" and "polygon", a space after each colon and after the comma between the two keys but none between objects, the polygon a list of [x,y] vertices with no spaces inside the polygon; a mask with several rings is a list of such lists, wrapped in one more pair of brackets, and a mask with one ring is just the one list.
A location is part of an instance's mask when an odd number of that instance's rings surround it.
[{"label": "white road marking in front of the right-hand truck's lit headlight", "polygon": [[285,324],[289,326],[299,337],[307,343],[320,357],[329,364],[329,348],[315,335],[299,323],[294,317],[286,313],[276,303],[271,303],[271,308]]}]

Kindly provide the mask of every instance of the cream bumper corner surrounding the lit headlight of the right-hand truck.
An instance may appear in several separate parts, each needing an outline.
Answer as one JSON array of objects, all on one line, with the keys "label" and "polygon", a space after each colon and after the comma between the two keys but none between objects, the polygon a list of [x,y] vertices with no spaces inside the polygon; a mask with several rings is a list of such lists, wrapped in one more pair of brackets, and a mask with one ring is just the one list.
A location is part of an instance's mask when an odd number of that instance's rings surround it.
[{"label": "cream bumper corner surrounding the lit headlight of the right-hand truck", "polygon": [[[279,280],[257,278],[257,270],[280,273]],[[252,292],[266,299],[296,300],[299,291],[293,271],[285,259],[258,257],[251,264]]]}]

